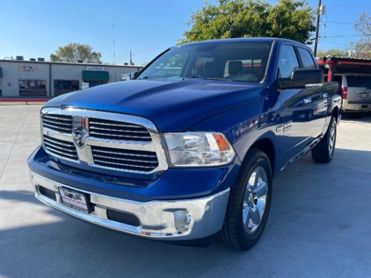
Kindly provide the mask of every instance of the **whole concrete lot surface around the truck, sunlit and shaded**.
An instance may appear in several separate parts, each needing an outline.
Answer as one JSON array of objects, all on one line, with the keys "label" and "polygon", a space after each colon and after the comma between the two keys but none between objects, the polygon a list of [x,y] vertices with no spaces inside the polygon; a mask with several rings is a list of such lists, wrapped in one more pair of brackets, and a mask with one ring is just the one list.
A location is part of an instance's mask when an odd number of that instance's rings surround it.
[{"label": "whole concrete lot surface around the truck, sunlit and shaded", "polygon": [[342,120],[331,163],[307,155],[275,178],[266,230],[239,252],[135,238],[38,202],[26,160],[40,144],[39,111],[0,106],[0,276],[371,276],[370,117]]}]

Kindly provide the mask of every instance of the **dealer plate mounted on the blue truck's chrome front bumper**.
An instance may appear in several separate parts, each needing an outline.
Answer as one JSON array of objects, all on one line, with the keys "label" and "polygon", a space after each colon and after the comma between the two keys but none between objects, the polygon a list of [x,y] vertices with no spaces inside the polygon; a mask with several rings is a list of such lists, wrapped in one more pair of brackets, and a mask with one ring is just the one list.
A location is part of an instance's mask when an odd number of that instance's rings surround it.
[{"label": "dealer plate mounted on the blue truck's chrome front bumper", "polygon": [[59,194],[63,205],[86,214],[90,212],[86,194],[63,187],[59,188]]}]

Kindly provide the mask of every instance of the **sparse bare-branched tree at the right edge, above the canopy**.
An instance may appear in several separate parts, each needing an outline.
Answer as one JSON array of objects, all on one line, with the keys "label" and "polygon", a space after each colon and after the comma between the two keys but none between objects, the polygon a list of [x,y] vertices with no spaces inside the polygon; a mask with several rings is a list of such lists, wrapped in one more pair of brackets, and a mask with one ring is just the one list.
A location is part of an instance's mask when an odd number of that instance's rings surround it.
[{"label": "sparse bare-branched tree at the right edge, above the canopy", "polygon": [[363,12],[354,23],[356,30],[362,33],[358,42],[355,44],[355,57],[371,58],[371,14]]}]

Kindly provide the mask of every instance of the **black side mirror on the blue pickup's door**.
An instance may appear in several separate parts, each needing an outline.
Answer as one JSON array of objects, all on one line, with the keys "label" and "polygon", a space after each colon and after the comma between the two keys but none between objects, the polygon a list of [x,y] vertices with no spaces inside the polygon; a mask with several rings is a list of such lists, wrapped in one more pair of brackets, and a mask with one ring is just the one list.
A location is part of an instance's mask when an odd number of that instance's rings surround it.
[{"label": "black side mirror on the blue pickup's door", "polygon": [[322,69],[296,69],[291,78],[277,79],[280,89],[304,88],[307,84],[319,84],[324,79]]}]

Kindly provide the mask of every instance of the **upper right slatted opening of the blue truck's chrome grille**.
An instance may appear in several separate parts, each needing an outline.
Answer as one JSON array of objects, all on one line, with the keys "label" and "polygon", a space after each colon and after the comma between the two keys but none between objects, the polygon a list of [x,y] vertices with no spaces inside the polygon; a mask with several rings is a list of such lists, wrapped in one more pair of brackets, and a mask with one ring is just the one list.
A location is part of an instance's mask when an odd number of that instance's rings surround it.
[{"label": "upper right slatted opening of the blue truck's chrome grille", "polygon": [[144,126],[105,119],[89,119],[89,135],[110,140],[144,142],[152,140],[150,133]]}]

